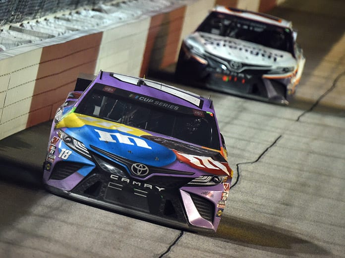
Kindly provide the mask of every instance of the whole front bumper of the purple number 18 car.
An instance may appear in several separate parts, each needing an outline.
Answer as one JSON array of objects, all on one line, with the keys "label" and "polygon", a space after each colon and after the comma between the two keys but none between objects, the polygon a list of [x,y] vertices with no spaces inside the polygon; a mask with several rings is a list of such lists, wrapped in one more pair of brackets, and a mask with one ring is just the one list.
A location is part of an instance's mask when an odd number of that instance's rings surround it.
[{"label": "whole front bumper of the purple number 18 car", "polygon": [[[99,156],[100,157],[100,156]],[[103,159],[106,159],[103,157]],[[107,160],[116,165],[115,162]],[[122,171],[125,168],[116,165]],[[189,187],[190,177],[152,175],[146,180],[112,174],[99,166],[58,161],[45,170],[48,191],[135,217],[198,232],[215,232],[225,205],[223,184]],[[223,212],[224,207],[221,207]]]}]

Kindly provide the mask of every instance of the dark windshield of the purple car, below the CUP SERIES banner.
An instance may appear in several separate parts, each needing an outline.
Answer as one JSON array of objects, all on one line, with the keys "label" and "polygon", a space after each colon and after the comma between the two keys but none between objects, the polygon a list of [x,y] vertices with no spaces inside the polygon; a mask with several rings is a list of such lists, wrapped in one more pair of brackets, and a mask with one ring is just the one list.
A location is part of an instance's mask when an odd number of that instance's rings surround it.
[{"label": "dark windshield of the purple car, below the CUP SERIES banner", "polygon": [[[94,88],[82,99],[75,113],[149,130],[213,149],[220,149],[214,114],[173,103],[169,104],[163,100],[162,102],[155,100],[155,103],[158,101],[165,105],[148,104],[133,98],[131,92],[116,89],[116,93],[119,91],[122,92],[121,96]],[[127,94],[123,94],[123,92],[127,92]],[[153,98],[147,97],[147,99]],[[177,107],[179,111],[176,111],[177,108],[174,109],[174,107]]]}]

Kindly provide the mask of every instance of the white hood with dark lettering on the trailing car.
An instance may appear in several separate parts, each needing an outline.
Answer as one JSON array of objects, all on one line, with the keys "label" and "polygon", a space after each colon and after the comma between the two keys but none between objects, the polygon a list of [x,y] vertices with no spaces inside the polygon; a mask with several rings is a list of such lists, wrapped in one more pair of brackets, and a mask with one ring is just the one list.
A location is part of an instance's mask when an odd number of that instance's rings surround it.
[{"label": "white hood with dark lettering on the trailing car", "polygon": [[252,66],[295,66],[293,56],[285,51],[259,44],[204,32],[194,32],[185,42],[209,55]]}]

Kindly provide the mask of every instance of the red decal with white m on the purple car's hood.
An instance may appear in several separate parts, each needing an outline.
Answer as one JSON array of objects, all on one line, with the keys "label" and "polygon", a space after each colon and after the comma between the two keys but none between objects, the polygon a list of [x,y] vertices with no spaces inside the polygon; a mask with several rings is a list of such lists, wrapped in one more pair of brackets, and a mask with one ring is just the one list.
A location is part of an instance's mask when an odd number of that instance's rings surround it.
[{"label": "red decal with white m on the purple car's hood", "polygon": [[201,169],[214,175],[227,174],[232,178],[233,172],[229,167],[228,162],[219,162],[211,157],[185,154],[177,150],[173,150],[173,152],[176,154],[178,160],[193,168]]}]

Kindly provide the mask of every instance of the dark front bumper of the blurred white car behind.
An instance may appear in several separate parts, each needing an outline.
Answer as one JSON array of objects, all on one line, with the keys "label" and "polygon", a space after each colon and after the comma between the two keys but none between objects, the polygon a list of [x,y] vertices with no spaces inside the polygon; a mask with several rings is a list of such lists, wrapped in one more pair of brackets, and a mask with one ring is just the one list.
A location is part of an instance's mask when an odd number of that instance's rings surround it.
[{"label": "dark front bumper of the blurred white car behind", "polygon": [[288,89],[291,78],[264,78],[261,70],[230,71],[221,67],[212,67],[207,62],[187,57],[180,51],[176,65],[176,79],[193,86],[230,93],[233,95],[257,99],[281,105],[288,105],[293,91]]}]

